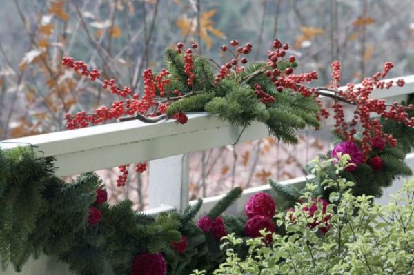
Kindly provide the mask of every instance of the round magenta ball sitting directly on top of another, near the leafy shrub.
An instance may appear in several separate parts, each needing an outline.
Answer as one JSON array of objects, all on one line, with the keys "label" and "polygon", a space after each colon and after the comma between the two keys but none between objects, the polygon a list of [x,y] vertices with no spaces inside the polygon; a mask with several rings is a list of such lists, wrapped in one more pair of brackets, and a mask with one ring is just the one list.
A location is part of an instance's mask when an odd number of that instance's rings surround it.
[{"label": "round magenta ball sitting directly on top of another, near the leafy shrub", "polygon": [[273,198],[269,194],[259,192],[250,196],[244,209],[246,210],[248,218],[257,215],[272,218],[275,215],[275,207],[275,201],[273,201]]}]

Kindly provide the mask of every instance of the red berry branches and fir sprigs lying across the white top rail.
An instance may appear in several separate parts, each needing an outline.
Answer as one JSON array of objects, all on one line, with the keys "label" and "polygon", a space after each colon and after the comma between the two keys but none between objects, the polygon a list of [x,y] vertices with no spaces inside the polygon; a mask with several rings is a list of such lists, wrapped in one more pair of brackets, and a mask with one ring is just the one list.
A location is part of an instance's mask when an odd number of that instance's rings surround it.
[{"label": "red berry branches and fir sprigs lying across the white top rail", "polygon": [[[103,79],[97,69],[89,70],[82,61],[64,57],[62,65],[91,81],[101,81],[103,89],[108,89],[121,98],[113,101],[110,107],[99,107],[91,114],[85,111],[75,115],[66,114],[67,128],[83,128],[112,119],[138,119],[144,123],[157,123],[172,118],[177,123],[184,124],[188,121],[186,112],[207,110],[218,114],[221,119],[228,119],[244,127],[253,119],[262,121],[271,134],[284,141],[295,142],[294,133],[297,128],[303,128],[306,124],[317,128],[318,121],[330,115],[328,108],[333,108],[335,132],[341,134],[346,141],[354,141],[357,126],[362,127],[364,161],[367,161],[366,157],[371,152],[373,139],[384,139],[391,147],[397,145],[397,140],[383,131],[380,121],[371,119],[371,114],[414,128],[414,118],[410,118],[406,112],[413,105],[387,105],[383,99],[370,99],[375,88],[388,89],[393,85],[404,85],[402,79],[395,83],[382,80],[393,68],[391,62],[385,63],[381,72],[364,79],[361,85],[350,83],[345,89],[340,89],[341,66],[335,61],[331,65],[331,84],[326,88],[312,88],[308,83],[318,79],[317,72],[296,74],[296,57],[286,56],[289,45],[275,39],[272,48],[267,52],[266,61],[246,65],[253,45],[246,43],[242,46],[238,40],[232,40],[230,45],[221,46],[221,52],[230,56],[229,61],[219,65],[213,59],[195,54],[199,50],[197,43],[192,43],[186,49],[184,43],[177,43],[175,50],[166,50],[168,70],[163,69],[159,73],[150,68],[144,70],[142,94],[128,87],[119,88],[115,79]],[[217,67],[216,74],[211,64]],[[331,97],[335,99],[335,104],[326,106],[319,96]],[[349,123],[344,119],[343,103],[356,106]],[[315,108],[309,107],[309,111],[304,111],[304,104]],[[300,111],[302,114],[296,114]],[[285,117],[280,119],[280,116]],[[124,185],[128,171],[126,166],[120,169],[122,174],[119,185]],[[139,171],[144,170],[139,168]]]}]

